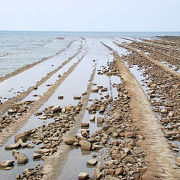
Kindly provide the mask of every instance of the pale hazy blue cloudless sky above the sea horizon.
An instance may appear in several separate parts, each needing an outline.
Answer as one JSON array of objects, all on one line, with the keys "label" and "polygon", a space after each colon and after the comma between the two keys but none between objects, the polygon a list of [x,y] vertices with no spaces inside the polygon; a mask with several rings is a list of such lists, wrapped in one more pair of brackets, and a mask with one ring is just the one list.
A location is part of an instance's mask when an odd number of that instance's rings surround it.
[{"label": "pale hazy blue cloudless sky above the sea horizon", "polygon": [[0,30],[180,31],[180,0],[0,0]]}]

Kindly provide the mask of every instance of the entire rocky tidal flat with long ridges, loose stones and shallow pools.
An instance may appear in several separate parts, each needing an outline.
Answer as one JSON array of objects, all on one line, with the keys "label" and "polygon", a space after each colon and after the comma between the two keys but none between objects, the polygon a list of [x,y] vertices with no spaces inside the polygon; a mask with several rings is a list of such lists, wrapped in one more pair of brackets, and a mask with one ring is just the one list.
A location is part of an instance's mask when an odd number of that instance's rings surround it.
[{"label": "entire rocky tidal flat with long ridges, loose stones and shallow pools", "polygon": [[1,180],[178,180],[180,38],[72,40],[0,78],[0,114]]}]

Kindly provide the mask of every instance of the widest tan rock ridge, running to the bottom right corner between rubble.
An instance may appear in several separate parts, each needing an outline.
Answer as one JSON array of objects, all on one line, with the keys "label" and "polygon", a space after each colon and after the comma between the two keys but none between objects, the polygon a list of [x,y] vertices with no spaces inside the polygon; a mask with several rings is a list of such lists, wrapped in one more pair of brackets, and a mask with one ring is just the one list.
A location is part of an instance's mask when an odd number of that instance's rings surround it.
[{"label": "widest tan rock ridge, running to the bottom right corner between rubble", "polygon": [[115,52],[114,58],[125,88],[131,97],[133,122],[145,138],[142,146],[147,153],[148,169],[144,178],[178,179],[179,170],[174,154],[169,150],[170,146],[164,138],[161,125],[152,111],[151,104],[134,76]]}]

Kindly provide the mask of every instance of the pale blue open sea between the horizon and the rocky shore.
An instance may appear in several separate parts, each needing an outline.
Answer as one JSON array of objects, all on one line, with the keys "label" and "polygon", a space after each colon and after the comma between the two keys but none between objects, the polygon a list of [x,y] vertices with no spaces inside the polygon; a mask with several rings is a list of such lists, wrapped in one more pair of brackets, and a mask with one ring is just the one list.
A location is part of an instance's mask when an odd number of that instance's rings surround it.
[{"label": "pale blue open sea between the horizon and the rocky shore", "polygon": [[[152,38],[180,32],[25,32],[0,31],[0,77],[42,58],[55,55],[77,38]],[[58,39],[64,37],[63,40]]]}]

